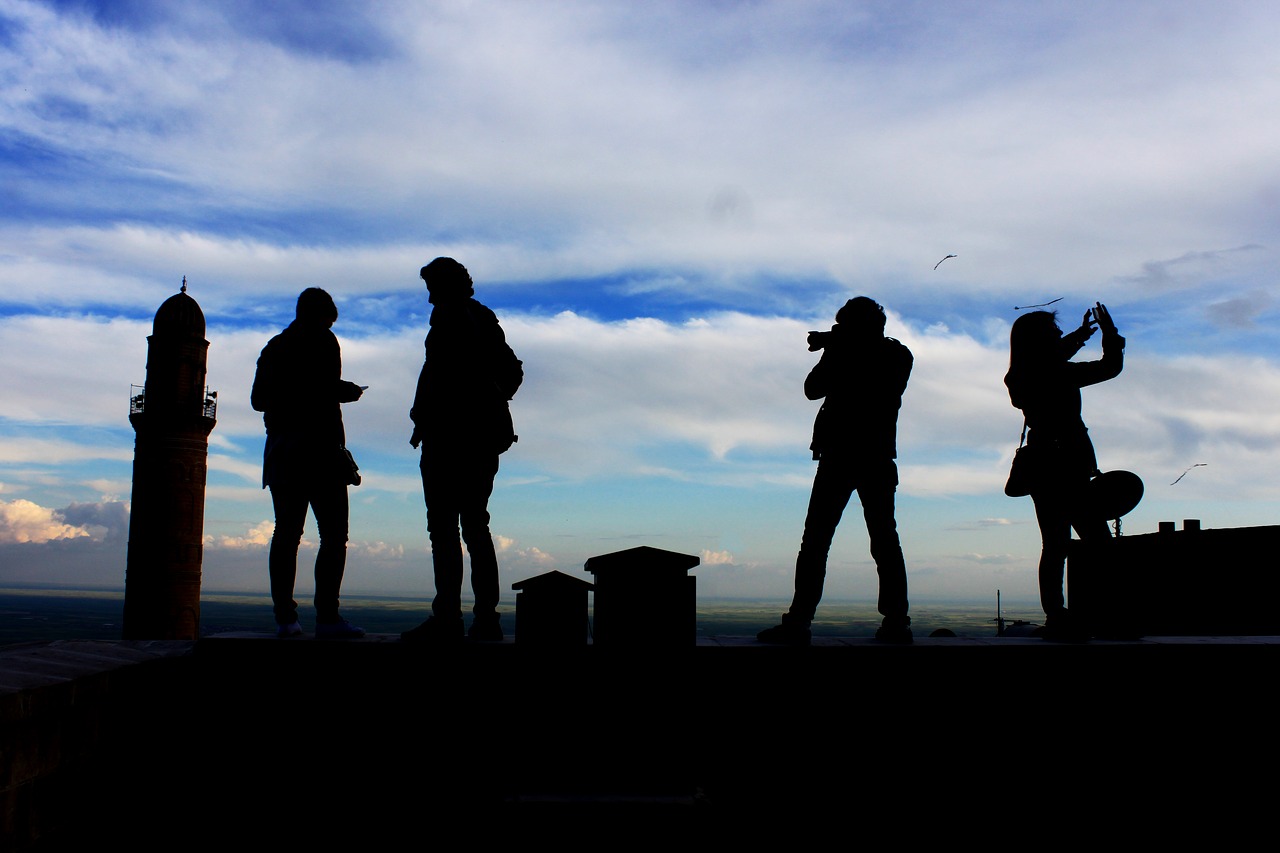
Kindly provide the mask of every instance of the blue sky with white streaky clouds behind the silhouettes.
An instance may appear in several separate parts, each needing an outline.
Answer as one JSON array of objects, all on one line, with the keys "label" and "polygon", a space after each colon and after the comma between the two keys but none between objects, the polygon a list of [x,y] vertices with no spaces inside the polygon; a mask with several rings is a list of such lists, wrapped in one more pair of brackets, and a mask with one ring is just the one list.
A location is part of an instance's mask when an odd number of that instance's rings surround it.
[{"label": "blue sky with white streaky clouds behind the silhouettes", "polygon": [[[504,589],[650,544],[703,596],[788,596],[805,332],[859,293],[915,353],[913,597],[1036,597],[1014,306],[1101,300],[1128,337],[1084,394],[1147,485],[1126,533],[1274,524],[1277,36],[1257,3],[0,0],[0,583],[123,583],[129,384],[186,275],[220,400],[205,588],[265,589],[248,387],[320,286],[370,386],[346,589],[430,594],[407,411],[438,255],[525,360]],[[828,590],[876,592],[856,505]]]}]

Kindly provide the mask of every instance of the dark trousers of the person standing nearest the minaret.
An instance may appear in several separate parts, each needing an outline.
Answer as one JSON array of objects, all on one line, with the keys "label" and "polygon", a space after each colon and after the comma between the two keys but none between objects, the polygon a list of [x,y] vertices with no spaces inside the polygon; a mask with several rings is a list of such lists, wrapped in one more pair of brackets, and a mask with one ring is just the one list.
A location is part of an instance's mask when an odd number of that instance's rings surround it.
[{"label": "dark trousers of the person standing nearest the minaret", "polygon": [[298,573],[298,543],[307,520],[307,506],[316,516],[320,549],[316,552],[316,621],[335,622],[338,593],[347,566],[347,487],[343,483],[308,483],[273,485],[275,533],[268,569],[271,575],[271,607],[279,625],[298,621],[298,602],[293,601],[293,583]]}]

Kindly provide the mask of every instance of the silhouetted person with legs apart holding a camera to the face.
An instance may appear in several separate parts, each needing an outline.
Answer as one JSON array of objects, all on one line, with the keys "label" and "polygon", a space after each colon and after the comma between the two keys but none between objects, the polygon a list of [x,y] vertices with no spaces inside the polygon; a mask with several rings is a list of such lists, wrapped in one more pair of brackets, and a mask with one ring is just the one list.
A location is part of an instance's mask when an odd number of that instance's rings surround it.
[{"label": "silhouetted person with legs apart holding a camera to the face", "polygon": [[804,382],[809,400],[826,401],[813,424],[818,473],[796,557],[795,596],[782,624],[756,635],[763,643],[808,646],[836,525],[854,491],[863,505],[872,558],[879,574],[876,638],[911,642],[906,565],[893,519],[897,489],[897,411],[911,375],[911,351],[884,337],[884,309],[865,296],[845,302],[831,332],[810,332],[822,359]]}]

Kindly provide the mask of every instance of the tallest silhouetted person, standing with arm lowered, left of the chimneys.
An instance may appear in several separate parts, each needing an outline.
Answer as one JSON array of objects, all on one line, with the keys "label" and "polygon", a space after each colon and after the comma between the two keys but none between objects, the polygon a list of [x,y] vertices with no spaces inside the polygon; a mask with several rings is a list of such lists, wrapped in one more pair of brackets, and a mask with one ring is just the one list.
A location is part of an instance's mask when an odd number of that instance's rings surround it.
[{"label": "tallest silhouetted person, standing with arm lowered, left of the chimneys", "polygon": [[[436,257],[421,270],[431,309],[426,360],[417,378],[410,444],[422,447],[422,496],[431,539],[431,616],[406,640],[452,643],[462,630],[462,540],[471,556],[474,640],[502,639],[498,557],[489,534],[489,496],[498,455],[516,441],[507,405],[524,379],[498,318],[472,298],[467,268]],[[458,538],[461,526],[462,537]]]}]

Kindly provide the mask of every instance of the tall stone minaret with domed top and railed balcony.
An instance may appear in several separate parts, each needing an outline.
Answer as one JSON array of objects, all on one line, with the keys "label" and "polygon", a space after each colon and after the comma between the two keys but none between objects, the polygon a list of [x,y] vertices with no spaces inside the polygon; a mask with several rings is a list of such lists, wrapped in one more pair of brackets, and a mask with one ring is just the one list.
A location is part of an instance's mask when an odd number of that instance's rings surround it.
[{"label": "tall stone minaret with domed top and railed balcony", "polygon": [[124,639],[196,639],[205,473],[218,393],[205,387],[205,315],[187,279],[147,338],[147,380],[129,400],[133,502],[124,573]]}]

